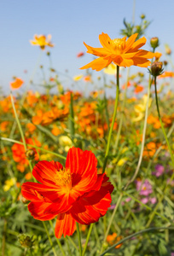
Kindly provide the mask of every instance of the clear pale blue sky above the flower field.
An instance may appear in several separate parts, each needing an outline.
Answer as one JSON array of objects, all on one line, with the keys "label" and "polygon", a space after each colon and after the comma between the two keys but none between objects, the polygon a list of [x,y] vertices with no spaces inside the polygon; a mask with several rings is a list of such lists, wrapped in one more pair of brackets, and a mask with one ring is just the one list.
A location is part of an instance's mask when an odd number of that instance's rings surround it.
[{"label": "clear pale blue sky above the flower field", "polygon": [[[9,91],[12,77],[25,82],[31,78],[38,61],[40,49],[29,40],[34,34],[52,35],[55,48],[51,53],[52,66],[61,73],[68,70],[70,76],[85,73],[78,68],[92,61],[92,55],[77,58],[79,51],[86,51],[83,42],[100,47],[98,35],[106,32],[110,38],[120,38],[123,20],[132,21],[134,0],[2,0],[0,1],[0,86]],[[149,38],[159,37],[158,51],[164,44],[174,52],[174,1],[136,0],[135,23],[145,14],[152,23],[146,32]],[[46,72],[49,59],[46,51],[39,64]],[[27,73],[24,73],[27,70]],[[38,68],[34,80],[41,79]]]}]

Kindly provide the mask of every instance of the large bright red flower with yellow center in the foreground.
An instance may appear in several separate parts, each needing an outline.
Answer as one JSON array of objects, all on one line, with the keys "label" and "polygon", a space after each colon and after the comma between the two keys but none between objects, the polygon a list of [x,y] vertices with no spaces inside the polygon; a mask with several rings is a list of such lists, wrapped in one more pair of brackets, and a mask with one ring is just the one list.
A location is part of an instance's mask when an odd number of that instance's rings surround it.
[{"label": "large bright red flower with yellow center in the foreground", "polygon": [[110,207],[113,185],[105,173],[97,174],[97,160],[91,151],[70,148],[66,167],[55,161],[39,161],[32,175],[39,183],[23,183],[22,195],[29,201],[33,218],[57,217],[55,236],[71,236],[79,224],[99,220]]}]

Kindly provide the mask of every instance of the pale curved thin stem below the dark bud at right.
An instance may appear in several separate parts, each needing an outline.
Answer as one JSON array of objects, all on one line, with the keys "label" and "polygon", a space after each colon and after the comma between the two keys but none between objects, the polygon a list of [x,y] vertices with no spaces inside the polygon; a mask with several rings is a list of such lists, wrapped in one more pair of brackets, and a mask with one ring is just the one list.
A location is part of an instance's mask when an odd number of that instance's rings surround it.
[{"label": "pale curved thin stem below the dark bud at right", "polygon": [[141,148],[141,152],[140,152],[140,157],[138,160],[138,164],[136,166],[136,172],[134,173],[133,177],[131,177],[131,180],[128,181],[128,183],[125,185],[125,190],[128,188],[128,186],[136,179],[136,176],[140,170],[140,166],[142,164],[142,154],[144,151],[144,144],[145,144],[145,138],[146,138],[146,128],[147,128],[147,119],[148,119],[148,102],[149,102],[149,98],[150,98],[150,88],[151,88],[151,84],[153,82],[153,79],[149,79],[149,84],[148,84],[148,98],[147,98],[147,102],[146,102],[146,111],[145,111],[145,117],[144,117],[144,127],[143,127],[143,131],[142,131],[142,148]]}]

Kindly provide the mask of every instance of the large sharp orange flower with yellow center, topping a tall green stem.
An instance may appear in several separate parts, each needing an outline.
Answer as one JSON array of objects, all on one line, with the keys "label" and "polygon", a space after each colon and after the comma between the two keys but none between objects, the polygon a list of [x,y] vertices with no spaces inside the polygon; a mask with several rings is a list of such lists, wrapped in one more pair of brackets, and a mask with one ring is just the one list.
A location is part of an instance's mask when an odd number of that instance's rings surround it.
[{"label": "large sharp orange flower with yellow center, topping a tall green stem", "polygon": [[91,61],[80,69],[91,67],[96,71],[100,71],[111,62],[120,67],[130,67],[132,65],[148,67],[151,64],[148,59],[152,59],[155,54],[147,50],[139,49],[142,45],[146,44],[146,38],[143,37],[136,41],[137,35],[137,33],[132,35],[127,41],[125,41],[126,37],[112,40],[107,34],[102,32],[102,34],[99,35],[102,48],[93,48],[84,43],[88,49],[87,52],[99,56],[99,58]]}]

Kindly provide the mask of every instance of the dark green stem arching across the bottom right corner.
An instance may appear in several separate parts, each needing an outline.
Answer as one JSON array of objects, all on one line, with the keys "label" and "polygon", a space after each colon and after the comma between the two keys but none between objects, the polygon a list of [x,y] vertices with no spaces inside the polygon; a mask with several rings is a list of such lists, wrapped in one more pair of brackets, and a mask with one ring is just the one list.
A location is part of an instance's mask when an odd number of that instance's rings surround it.
[{"label": "dark green stem arching across the bottom right corner", "polygon": [[124,241],[127,241],[129,239],[131,239],[132,237],[135,237],[135,236],[139,236],[143,233],[146,233],[148,231],[155,231],[155,230],[174,230],[174,228],[171,228],[171,227],[155,227],[155,228],[149,228],[149,229],[146,229],[146,230],[141,230],[141,231],[138,231],[130,236],[126,236],[124,239],[120,240],[119,242],[113,244],[112,247],[109,247],[104,253],[102,253],[100,256],[103,256],[105,255],[106,253],[109,253],[111,250],[113,250],[114,247],[117,247],[119,244],[123,243]]}]

